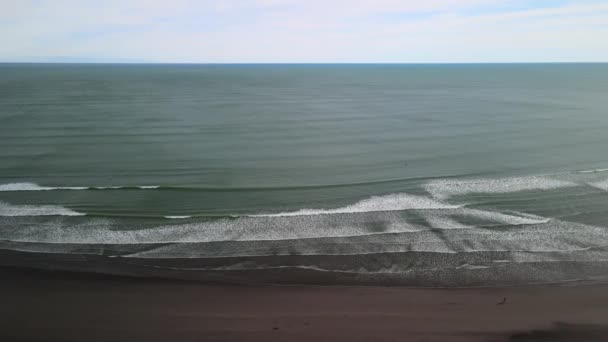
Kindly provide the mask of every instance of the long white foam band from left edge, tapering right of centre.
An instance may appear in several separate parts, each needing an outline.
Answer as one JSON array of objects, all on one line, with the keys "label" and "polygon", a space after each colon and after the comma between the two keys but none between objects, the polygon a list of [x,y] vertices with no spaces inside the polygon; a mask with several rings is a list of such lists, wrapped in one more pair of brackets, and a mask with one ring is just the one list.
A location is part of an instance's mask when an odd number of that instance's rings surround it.
[{"label": "long white foam band from left edge, tapering right of centre", "polygon": [[[241,217],[207,222],[170,223],[156,227],[124,230],[112,220],[91,219],[75,224],[63,220],[3,229],[0,239],[19,242],[141,244],[215,241],[275,241],[320,237],[369,236],[383,233],[414,232],[424,229],[408,223],[399,212],[364,215],[312,215],[298,217]],[[10,224],[5,224],[10,227]],[[131,228],[131,227],[130,227]]]}]

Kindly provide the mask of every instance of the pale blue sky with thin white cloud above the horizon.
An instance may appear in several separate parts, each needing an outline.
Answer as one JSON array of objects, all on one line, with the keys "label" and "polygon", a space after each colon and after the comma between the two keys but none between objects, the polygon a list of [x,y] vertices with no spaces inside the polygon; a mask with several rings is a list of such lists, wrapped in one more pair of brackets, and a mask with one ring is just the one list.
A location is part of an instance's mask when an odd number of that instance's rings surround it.
[{"label": "pale blue sky with thin white cloud above the horizon", "polygon": [[0,61],[608,61],[608,1],[0,0]]}]

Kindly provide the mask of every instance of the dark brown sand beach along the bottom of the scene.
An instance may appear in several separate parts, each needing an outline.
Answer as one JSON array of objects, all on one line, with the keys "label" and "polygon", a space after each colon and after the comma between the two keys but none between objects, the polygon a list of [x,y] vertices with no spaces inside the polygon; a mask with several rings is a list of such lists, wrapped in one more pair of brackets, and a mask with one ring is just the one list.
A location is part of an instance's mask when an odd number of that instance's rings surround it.
[{"label": "dark brown sand beach along the bottom of the scene", "polygon": [[605,284],[217,286],[12,268],[0,276],[0,341],[608,341]]}]

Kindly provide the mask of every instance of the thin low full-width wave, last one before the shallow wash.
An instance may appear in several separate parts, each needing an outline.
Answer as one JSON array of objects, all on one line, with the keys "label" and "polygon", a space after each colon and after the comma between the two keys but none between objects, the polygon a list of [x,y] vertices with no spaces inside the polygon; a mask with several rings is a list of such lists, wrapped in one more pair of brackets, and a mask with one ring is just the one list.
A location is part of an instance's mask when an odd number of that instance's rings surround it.
[{"label": "thin low full-width wave, last one before the shallow wash", "polygon": [[[282,246],[281,246],[282,245]],[[310,247],[307,249],[294,250],[296,247]],[[373,248],[370,248],[373,247]],[[422,247],[422,248],[420,248]],[[428,248],[431,247],[431,248]],[[518,249],[514,245],[511,249],[459,249],[459,250],[437,250],[433,246],[418,246],[409,248],[406,244],[391,244],[388,239],[384,243],[366,242],[315,242],[308,245],[298,241],[287,244],[259,244],[247,243],[154,243],[154,244],[74,244],[74,243],[40,243],[40,242],[14,242],[0,240],[0,250],[13,250],[29,253],[51,253],[51,254],[92,254],[105,256],[120,256],[130,259],[194,259],[213,260],[214,262],[225,259],[249,259],[250,261],[264,261],[272,258],[278,263],[278,258],[297,258],[318,260],[318,258],[397,258],[410,256],[423,257],[426,263],[431,260],[442,260],[443,262],[452,258],[473,258],[477,260],[486,259],[492,263],[512,263],[526,261],[574,261],[574,260],[605,260],[608,261],[608,246],[567,246],[566,249],[541,246],[536,249]],[[466,245],[462,245],[465,247]],[[556,246],[555,246],[556,247]],[[448,259],[444,259],[444,258]],[[316,258],[316,259],[315,259]],[[496,259],[499,258],[499,259]],[[284,259],[287,260],[287,259]],[[346,259],[345,259],[346,260]],[[167,260],[167,262],[170,262]],[[187,261],[190,262],[190,261]]]}]

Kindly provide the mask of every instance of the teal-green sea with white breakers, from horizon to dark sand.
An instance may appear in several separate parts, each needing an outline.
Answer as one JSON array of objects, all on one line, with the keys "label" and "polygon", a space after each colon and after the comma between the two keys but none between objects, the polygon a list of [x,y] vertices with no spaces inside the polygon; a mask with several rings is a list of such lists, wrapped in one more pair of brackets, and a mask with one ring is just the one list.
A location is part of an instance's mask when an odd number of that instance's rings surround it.
[{"label": "teal-green sea with white breakers, from horizon to dark sand", "polygon": [[0,64],[2,264],[608,276],[608,64]]}]

